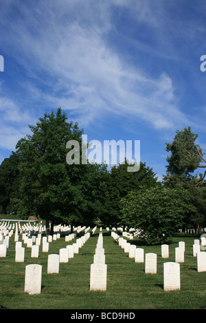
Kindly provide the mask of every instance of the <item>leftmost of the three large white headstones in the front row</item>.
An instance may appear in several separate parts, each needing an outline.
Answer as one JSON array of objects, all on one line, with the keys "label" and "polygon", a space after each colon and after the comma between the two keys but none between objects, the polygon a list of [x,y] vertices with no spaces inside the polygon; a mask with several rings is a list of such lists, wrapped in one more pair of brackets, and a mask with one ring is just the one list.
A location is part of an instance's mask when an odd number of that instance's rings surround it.
[{"label": "leftmost of the three large white headstones in the front row", "polygon": [[39,294],[41,293],[41,278],[42,266],[41,265],[27,265],[25,267],[25,293]]}]

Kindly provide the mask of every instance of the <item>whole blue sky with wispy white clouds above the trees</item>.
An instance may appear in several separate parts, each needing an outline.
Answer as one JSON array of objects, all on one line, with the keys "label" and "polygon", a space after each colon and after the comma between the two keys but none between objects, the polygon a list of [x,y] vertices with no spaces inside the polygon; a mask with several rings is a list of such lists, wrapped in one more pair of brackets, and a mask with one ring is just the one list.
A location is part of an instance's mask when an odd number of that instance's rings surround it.
[{"label": "whole blue sky with wispy white clouds above the trees", "polygon": [[0,162],[58,107],[89,141],[140,140],[159,179],[176,129],[205,151],[205,1],[7,0],[0,18]]}]

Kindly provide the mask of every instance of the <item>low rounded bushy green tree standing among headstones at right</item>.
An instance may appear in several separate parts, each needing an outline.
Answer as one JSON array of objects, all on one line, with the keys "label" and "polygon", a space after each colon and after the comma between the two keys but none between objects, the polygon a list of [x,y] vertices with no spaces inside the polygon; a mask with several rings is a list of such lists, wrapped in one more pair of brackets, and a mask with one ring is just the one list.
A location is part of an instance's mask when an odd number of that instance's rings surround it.
[{"label": "low rounded bushy green tree standing among headstones at right", "polygon": [[139,238],[148,245],[165,243],[194,210],[190,192],[174,188],[142,188],[121,200],[122,221],[139,230]]}]

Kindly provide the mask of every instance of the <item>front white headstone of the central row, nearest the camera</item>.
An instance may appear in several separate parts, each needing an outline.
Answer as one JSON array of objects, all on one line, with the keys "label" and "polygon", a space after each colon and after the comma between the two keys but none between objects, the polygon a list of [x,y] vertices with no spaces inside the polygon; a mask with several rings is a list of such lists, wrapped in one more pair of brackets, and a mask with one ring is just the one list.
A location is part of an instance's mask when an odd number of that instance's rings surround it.
[{"label": "front white headstone of the central row, nearest the camera", "polygon": [[91,264],[90,269],[90,290],[91,291],[106,291],[106,264]]}]

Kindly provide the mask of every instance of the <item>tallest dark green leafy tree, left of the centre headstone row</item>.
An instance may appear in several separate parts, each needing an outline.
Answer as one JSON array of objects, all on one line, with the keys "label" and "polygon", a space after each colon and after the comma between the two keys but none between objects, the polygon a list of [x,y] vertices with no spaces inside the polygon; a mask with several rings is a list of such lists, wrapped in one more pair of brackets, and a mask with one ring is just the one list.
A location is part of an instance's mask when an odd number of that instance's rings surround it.
[{"label": "tallest dark green leafy tree, left of the centre headstone row", "polygon": [[[83,221],[80,204],[84,201],[80,191],[81,164],[68,164],[66,148],[69,140],[76,140],[81,148],[82,130],[78,124],[67,122],[67,115],[59,108],[56,113],[45,113],[31,135],[19,140],[21,184],[20,198],[16,199],[19,214],[38,214],[49,221],[74,223]],[[85,165],[84,165],[85,166]]]}]

